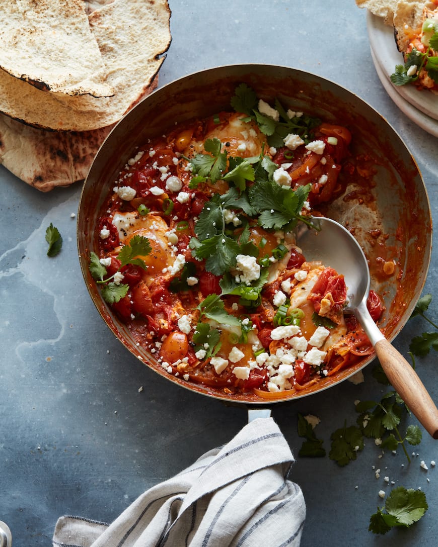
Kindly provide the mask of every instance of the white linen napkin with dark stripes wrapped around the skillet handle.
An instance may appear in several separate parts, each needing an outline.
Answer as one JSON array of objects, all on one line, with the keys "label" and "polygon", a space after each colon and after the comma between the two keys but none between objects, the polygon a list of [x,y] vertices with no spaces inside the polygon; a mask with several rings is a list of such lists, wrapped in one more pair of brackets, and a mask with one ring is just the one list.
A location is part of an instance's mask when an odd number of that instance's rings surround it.
[{"label": "white linen napkin with dark stripes wrapped around the skillet handle", "polygon": [[306,517],[294,461],[272,418],[153,486],[110,525],[62,516],[55,547],[298,547]]}]

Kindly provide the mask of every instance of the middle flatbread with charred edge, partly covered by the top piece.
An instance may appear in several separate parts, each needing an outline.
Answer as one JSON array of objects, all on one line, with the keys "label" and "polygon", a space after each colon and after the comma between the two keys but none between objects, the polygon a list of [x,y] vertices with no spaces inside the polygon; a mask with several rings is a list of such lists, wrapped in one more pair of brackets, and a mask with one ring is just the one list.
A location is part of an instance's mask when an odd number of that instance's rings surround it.
[{"label": "middle flatbread with charred edge, partly covered by the top piece", "polygon": [[[89,3],[94,9],[99,2]],[[157,75],[170,45],[166,0],[114,0],[88,15],[105,65],[111,97],[37,89],[0,70],[0,111],[43,129],[89,131],[112,125],[139,100]]]}]

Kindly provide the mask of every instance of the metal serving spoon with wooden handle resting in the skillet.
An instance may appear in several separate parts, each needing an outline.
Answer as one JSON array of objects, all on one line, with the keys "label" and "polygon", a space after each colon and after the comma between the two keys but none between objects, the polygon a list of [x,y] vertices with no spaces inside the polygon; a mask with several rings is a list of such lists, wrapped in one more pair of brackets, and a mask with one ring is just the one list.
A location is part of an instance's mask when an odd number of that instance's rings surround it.
[{"label": "metal serving spoon with wooden handle resting in the skillet", "polygon": [[434,439],[438,439],[438,409],[407,360],[385,339],[366,301],[370,291],[370,270],[359,243],[341,224],[325,217],[313,217],[318,230],[300,225],[297,245],[306,260],[320,260],[343,274],[348,289],[346,311],[354,313],[365,330],[391,385]]}]

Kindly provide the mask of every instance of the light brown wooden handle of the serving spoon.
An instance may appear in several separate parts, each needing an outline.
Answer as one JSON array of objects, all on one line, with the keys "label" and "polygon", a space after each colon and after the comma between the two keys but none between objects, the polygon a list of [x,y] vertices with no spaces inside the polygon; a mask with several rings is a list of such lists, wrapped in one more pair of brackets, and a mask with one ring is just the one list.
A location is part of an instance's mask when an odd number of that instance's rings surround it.
[{"label": "light brown wooden handle of the serving spoon", "polygon": [[379,340],[374,347],[395,391],[424,429],[438,439],[438,409],[417,373],[388,340]]}]

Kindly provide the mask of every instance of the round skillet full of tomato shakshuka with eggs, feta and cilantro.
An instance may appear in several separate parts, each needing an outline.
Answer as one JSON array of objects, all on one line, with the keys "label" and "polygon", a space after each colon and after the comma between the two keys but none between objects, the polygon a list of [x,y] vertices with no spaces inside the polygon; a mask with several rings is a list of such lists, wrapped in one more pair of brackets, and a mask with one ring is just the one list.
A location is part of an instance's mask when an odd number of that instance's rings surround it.
[{"label": "round skillet full of tomato shakshuka with eggs, feta and cilantro", "polygon": [[303,397],[374,358],[343,272],[297,246],[318,216],[360,243],[368,309],[394,339],[431,251],[404,142],[319,76],[212,68],[154,91],[103,143],[79,204],[80,265],[108,327],[160,375],[223,400]]}]

